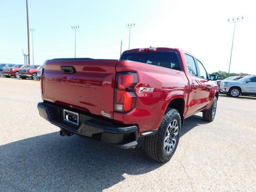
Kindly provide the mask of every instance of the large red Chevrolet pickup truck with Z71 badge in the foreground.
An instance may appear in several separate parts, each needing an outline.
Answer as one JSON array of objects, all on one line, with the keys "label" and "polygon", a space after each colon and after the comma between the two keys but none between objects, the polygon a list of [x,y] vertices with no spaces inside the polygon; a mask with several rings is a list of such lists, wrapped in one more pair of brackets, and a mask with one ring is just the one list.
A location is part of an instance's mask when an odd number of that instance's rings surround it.
[{"label": "large red Chevrolet pickup truck with Z71 badge in the foreground", "polygon": [[79,134],[120,148],[134,148],[144,137],[146,154],[166,162],[185,118],[202,112],[204,120],[214,119],[217,77],[177,48],[127,50],[119,60],[47,60],[38,111],[61,136]]}]

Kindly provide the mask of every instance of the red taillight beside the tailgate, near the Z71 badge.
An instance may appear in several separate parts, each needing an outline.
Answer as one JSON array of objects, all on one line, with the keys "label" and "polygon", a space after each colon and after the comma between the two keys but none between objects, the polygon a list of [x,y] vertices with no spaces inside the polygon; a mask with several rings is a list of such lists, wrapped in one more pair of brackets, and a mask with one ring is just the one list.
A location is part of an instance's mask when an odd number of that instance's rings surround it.
[{"label": "red taillight beside the tailgate, near the Z71 badge", "polygon": [[129,112],[136,103],[134,87],[138,83],[138,75],[132,72],[118,72],[116,74],[114,110]]}]

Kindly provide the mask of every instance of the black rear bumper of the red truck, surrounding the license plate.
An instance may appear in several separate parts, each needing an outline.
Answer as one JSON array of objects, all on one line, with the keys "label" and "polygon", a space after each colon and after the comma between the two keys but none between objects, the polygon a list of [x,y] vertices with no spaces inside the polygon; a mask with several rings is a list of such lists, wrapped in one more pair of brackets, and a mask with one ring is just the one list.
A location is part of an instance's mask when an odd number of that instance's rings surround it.
[{"label": "black rear bumper of the red truck, surrounding the license plate", "polygon": [[[79,110],[48,102],[38,103],[37,108],[42,118],[60,127],[60,129],[67,130],[71,133],[95,138],[106,144],[115,145],[120,148],[134,148],[138,144],[138,127],[135,125],[118,125],[112,121],[97,118],[97,116],[87,115]],[[64,109],[78,113],[78,126],[64,121]]]}]

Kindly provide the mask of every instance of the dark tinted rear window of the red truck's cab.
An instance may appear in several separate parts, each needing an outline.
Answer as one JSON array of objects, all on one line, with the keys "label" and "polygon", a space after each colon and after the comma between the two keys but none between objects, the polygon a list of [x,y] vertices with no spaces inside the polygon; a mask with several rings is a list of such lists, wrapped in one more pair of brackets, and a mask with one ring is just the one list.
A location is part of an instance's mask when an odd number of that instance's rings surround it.
[{"label": "dark tinted rear window of the red truck's cab", "polygon": [[181,70],[175,52],[125,53],[120,60],[130,60],[160,67]]}]

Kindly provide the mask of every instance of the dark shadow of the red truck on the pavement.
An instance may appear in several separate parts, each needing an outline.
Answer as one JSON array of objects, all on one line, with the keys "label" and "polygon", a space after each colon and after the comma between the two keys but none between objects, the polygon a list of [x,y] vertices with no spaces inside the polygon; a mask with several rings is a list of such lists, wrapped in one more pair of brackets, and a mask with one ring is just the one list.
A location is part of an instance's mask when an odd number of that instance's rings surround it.
[{"label": "dark shadow of the red truck on the pavement", "polygon": [[[182,135],[202,122],[200,116],[188,118]],[[102,191],[126,174],[144,174],[162,165],[147,158],[143,140],[134,150],[122,150],[53,132],[0,146],[0,186],[8,192]]]}]

